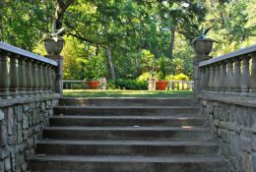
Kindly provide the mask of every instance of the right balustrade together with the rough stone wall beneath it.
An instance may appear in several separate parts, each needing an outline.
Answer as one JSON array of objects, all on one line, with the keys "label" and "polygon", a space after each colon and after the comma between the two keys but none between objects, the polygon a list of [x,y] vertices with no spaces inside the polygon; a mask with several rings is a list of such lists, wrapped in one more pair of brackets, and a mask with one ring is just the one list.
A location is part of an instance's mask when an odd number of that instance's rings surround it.
[{"label": "right balustrade together with the rough stone wall beneath it", "polygon": [[221,143],[229,171],[256,171],[256,45],[196,68],[202,114]]}]

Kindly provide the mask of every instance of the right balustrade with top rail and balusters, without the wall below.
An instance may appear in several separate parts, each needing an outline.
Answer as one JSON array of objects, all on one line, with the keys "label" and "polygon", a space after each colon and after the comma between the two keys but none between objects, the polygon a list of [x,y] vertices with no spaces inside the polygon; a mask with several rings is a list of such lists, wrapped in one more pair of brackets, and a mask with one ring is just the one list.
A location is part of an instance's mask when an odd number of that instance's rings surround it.
[{"label": "right balustrade with top rail and balusters, without the wall below", "polygon": [[199,63],[206,93],[256,96],[256,45]]}]

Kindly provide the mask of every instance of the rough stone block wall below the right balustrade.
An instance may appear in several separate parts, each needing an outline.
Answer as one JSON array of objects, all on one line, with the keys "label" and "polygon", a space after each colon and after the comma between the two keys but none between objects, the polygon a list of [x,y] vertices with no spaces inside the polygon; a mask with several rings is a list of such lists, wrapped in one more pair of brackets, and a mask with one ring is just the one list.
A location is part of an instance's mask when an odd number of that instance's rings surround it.
[{"label": "rough stone block wall below the right balustrade", "polygon": [[[230,172],[256,172],[256,103],[240,96],[205,98],[208,123],[229,160]],[[252,103],[253,102],[253,103]]]}]

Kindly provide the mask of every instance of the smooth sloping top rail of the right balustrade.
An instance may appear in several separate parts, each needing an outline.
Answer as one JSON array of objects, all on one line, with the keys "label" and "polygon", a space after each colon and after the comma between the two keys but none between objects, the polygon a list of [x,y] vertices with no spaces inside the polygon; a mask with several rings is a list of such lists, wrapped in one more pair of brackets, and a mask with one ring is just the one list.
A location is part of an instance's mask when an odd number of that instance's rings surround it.
[{"label": "smooth sloping top rail of the right balustrade", "polygon": [[242,49],[230,52],[228,54],[224,54],[222,56],[219,56],[219,57],[216,57],[216,58],[204,61],[204,62],[200,62],[199,67],[207,66],[207,65],[210,65],[213,63],[221,62],[221,61],[233,58],[233,57],[242,56],[242,55],[249,54],[252,52],[256,52],[256,44],[246,47],[246,48],[242,48]]}]

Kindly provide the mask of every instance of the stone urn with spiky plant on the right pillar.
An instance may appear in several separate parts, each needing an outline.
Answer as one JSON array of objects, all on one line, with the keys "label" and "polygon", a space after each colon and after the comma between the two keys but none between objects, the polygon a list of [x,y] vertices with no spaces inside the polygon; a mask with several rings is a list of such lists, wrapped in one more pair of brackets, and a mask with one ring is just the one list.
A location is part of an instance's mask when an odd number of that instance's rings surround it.
[{"label": "stone urn with spiky plant on the right pillar", "polygon": [[195,37],[192,40],[192,45],[194,46],[195,52],[197,55],[199,56],[208,56],[211,51],[213,50],[213,44],[214,42],[217,42],[216,40],[212,39],[212,38],[207,38],[206,34],[208,33],[208,31],[210,29],[212,29],[213,27],[209,28],[209,29],[201,29],[201,34],[198,37]]}]

